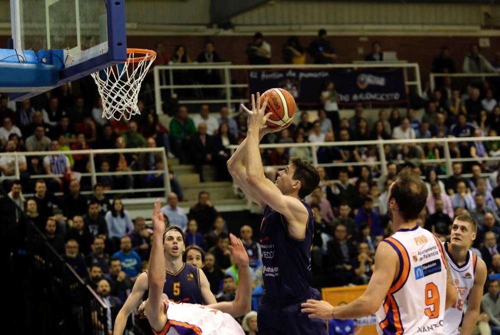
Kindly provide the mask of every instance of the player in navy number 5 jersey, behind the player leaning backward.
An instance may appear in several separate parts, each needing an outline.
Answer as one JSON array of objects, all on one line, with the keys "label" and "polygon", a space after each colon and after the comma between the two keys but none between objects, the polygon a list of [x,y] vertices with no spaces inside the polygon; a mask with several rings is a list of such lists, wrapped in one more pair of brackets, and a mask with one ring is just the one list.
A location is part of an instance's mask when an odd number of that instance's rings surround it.
[{"label": "player in navy number 5 jersey, behind the player leaning backward", "polygon": [[[185,248],[184,233],[179,227],[170,226],[163,235],[163,257],[165,278],[163,292],[175,302],[189,304],[214,304],[215,297],[210,291],[210,284],[203,271],[182,262]],[[145,299],[148,290],[147,272],[140,274],[135,281],[132,292],[116,317],[113,334],[121,335],[126,319],[132,311]]]}]

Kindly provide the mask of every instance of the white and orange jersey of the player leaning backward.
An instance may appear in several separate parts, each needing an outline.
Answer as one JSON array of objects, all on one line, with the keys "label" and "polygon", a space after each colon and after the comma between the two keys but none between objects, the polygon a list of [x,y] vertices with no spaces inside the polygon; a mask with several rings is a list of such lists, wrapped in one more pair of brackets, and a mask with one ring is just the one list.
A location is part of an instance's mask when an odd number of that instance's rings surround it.
[{"label": "white and orange jersey of the player leaning backward", "polygon": [[229,314],[195,304],[163,301],[167,322],[155,335],[244,335],[241,326]]}]

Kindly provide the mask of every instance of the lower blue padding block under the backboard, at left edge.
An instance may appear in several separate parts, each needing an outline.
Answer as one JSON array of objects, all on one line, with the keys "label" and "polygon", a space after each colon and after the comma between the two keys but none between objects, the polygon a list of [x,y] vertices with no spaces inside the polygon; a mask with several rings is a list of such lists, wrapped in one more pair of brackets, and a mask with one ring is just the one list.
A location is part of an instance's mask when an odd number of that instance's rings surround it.
[{"label": "lower blue padding block under the backboard, at left edge", "polygon": [[0,62],[0,88],[56,86],[58,81],[59,69],[55,65]]}]

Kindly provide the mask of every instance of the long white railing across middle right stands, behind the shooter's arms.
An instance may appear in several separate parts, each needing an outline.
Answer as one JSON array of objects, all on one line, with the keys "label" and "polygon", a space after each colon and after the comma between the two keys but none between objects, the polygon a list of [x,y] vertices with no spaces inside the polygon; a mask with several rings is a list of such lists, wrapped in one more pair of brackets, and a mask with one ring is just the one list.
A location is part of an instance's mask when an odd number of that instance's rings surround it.
[{"label": "long white railing across middle right stands, behind the shooter's arms", "polygon": [[[457,142],[476,142],[476,141],[500,141],[500,136],[491,137],[444,137],[444,138],[428,138],[428,139],[407,139],[407,140],[371,140],[371,141],[348,141],[348,142],[324,142],[324,143],[275,143],[275,144],[260,144],[259,147],[262,149],[275,149],[275,148],[310,148],[312,156],[312,165],[314,167],[343,167],[343,166],[373,166],[377,165],[380,168],[382,175],[387,174],[387,160],[385,158],[384,145],[423,145],[425,143],[436,143],[437,146],[441,146],[443,149],[443,158],[439,159],[422,159],[420,162],[422,164],[434,164],[434,163],[444,163],[446,167],[446,175],[450,176],[452,174],[451,165],[454,162],[500,162],[500,156],[494,157],[481,157],[481,158],[451,158],[451,153],[449,150],[449,143]],[[320,147],[342,147],[342,146],[354,146],[354,147],[369,147],[376,146],[377,148],[377,161],[362,161],[362,162],[332,162],[332,163],[318,163],[317,159],[317,149]],[[238,146],[230,145],[229,149],[231,154],[234,153]],[[403,163],[396,162],[396,163]],[[284,168],[282,165],[268,165],[264,168]],[[233,184],[235,190],[237,186]]]}]

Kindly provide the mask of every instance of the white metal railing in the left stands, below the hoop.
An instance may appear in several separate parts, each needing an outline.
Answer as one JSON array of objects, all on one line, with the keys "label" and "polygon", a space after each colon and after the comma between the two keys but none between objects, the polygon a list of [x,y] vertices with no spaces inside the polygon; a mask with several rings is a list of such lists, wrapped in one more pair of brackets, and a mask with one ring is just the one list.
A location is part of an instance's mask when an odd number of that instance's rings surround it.
[{"label": "white metal railing in the left stands, below the hoop", "polygon": [[[156,153],[161,154],[161,160],[163,162],[163,170],[139,170],[139,171],[109,171],[109,172],[97,172],[95,167],[95,156],[96,155],[112,155],[112,154],[147,154],[147,153]],[[151,173],[160,173],[163,175],[163,187],[156,188],[129,188],[129,189],[116,189],[116,190],[108,190],[106,193],[115,194],[115,193],[137,193],[137,192],[163,192],[165,194],[165,198],[168,196],[168,193],[171,192],[170,188],[170,180],[168,176],[168,166],[167,166],[167,158],[164,148],[133,148],[133,149],[88,149],[88,150],[67,150],[67,151],[28,151],[28,152],[5,152],[0,153],[0,157],[14,157],[15,164],[15,173],[14,175],[5,176],[3,175],[2,179],[21,179],[21,172],[19,171],[19,156],[25,157],[43,157],[47,155],[88,155],[89,161],[89,172],[80,173],[81,177],[90,177],[92,186],[97,183],[97,177],[100,176],[135,176],[135,175],[148,175]],[[139,157],[140,159],[140,157]],[[47,178],[55,178],[55,177],[63,177],[62,174],[35,174],[29,175],[29,179],[47,179]],[[91,194],[91,191],[82,191],[82,194]],[[25,196],[31,196],[32,194],[24,194]],[[56,193],[55,195],[60,195]]]}]

